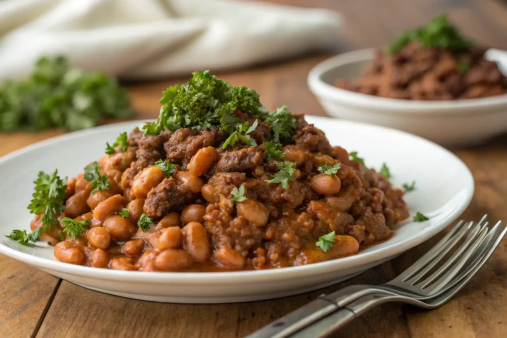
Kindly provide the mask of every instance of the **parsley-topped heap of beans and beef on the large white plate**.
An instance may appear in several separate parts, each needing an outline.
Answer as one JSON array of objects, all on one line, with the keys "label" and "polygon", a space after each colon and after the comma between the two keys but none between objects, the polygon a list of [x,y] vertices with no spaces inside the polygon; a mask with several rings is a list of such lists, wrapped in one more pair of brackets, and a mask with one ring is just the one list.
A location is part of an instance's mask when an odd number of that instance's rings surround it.
[{"label": "parsley-topped heap of beans and beef on the large white plate", "polygon": [[367,168],[253,90],[198,71],[160,102],[156,122],[105,144],[76,177],[40,172],[32,232],[9,237],[96,268],[250,270],[354,254],[409,217],[385,165]]}]

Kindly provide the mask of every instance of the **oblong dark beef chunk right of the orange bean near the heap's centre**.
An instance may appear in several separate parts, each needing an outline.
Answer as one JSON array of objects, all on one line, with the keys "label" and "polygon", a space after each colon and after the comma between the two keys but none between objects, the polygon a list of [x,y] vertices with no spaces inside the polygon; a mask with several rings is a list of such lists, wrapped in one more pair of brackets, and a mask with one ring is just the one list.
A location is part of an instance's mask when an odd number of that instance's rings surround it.
[{"label": "oblong dark beef chunk right of the orange bean near the heap's centre", "polygon": [[218,172],[240,172],[255,169],[262,162],[261,152],[256,147],[248,147],[235,151],[224,152],[220,161],[216,164]]}]

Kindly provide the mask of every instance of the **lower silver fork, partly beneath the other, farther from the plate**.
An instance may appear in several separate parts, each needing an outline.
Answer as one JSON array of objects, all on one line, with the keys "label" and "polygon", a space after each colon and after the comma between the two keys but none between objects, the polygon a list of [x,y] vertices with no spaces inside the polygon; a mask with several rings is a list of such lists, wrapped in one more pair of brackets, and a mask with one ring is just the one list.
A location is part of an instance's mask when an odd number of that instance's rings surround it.
[{"label": "lower silver fork, partly beneath the other, farther from the plate", "polygon": [[404,302],[424,309],[435,309],[440,307],[454,296],[493,254],[505,236],[505,233],[507,233],[507,227],[500,233],[500,224],[501,222],[496,223],[496,225],[488,233],[485,241],[481,244],[482,248],[479,250],[480,252],[476,252],[474,257],[471,258],[473,259],[473,263],[455,278],[458,281],[454,283],[452,287],[446,288],[444,292],[439,293],[437,296],[421,300],[395,293],[368,294],[356,299],[350,304],[345,305],[343,308],[331,315],[304,327],[302,330],[291,335],[291,338],[321,338],[328,336],[330,333],[336,331],[338,328],[362,315],[366,311],[387,302]]}]

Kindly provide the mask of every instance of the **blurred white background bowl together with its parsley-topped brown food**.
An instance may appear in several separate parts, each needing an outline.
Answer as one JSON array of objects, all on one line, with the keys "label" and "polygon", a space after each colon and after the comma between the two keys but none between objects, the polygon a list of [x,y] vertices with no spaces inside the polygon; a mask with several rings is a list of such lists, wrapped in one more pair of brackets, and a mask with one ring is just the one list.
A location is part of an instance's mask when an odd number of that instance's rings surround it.
[{"label": "blurred white background bowl together with its parsley-topped brown food", "polygon": [[506,66],[501,51],[462,37],[439,16],[383,50],[324,60],[308,85],[332,116],[463,145],[507,131]]}]

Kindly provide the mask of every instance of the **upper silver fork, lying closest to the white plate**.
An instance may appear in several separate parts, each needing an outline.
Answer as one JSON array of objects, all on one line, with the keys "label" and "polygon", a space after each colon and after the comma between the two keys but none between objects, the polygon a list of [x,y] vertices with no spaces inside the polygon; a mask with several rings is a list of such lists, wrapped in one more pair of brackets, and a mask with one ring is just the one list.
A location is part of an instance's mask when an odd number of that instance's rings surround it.
[{"label": "upper silver fork, lying closest to the white plate", "polygon": [[[476,226],[473,226],[473,222],[458,222],[458,224],[446,236],[444,236],[439,243],[433,246],[433,248],[419,258],[410,268],[405,270],[400,276],[394,278],[392,281],[379,286],[352,285],[330,295],[320,295],[317,299],[315,299],[315,301],[289,313],[268,326],[253,332],[247,337],[286,337],[294,332],[297,332],[301,328],[308,326],[312,322],[337,311],[346,304],[372,293],[385,293],[388,295],[392,295],[392,293],[394,293],[404,296],[412,296],[417,299],[427,299],[438,295],[439,292],[444,292],[446,290],[444,288],[446,283],[451,281],[459,270],[463,268],[466,260],[484,240],[488,230],[487,222],[484,223],[486,217],[487,215],[484,215]],[[442,261],[445,255],[460,241],[460,239],[463,238],[463,236],[467,234],[467,239],[445,263],[445,265],[438,269],[430,277],[416,285],[416,283],[419,282],[428,271]],[[469,252],[467,251],[468,248]],[[445,270],[443,268],[449,268],[453,264],[453,269],[441,276]],[[437,281],[434,281],[439,276],[440,278]],[[433,283],[429,285],[431,282]],[[457,281],[454,281],[454,284],[455,283],[457,283]],[[447,288],[452,286],[453,284],[449,283]]]}]

